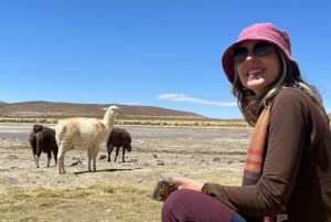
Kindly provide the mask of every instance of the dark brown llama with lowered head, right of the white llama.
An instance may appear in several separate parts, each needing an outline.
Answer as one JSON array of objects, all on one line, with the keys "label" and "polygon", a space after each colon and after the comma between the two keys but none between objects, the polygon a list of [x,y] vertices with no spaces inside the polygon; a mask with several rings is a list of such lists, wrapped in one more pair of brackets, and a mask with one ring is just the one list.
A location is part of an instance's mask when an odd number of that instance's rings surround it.
[{"label": "dark brown llama with lowered head, right of the white llama", "polygon": [[110,154],[111,154],[114,147],[116,147],[116,156],[115,156],[114,161],[116,162],[119,148],[122,147],[121,160],[122,160],[122,162],[125,162],[125,151],[126,150],[128,150],[128,152],[131,151],[130,134],[125,129],[114,128],[111,130],[111,133],[109,134],[106,145],[107,145],[107,152],[108,152],[108,162],[110,162]]}]

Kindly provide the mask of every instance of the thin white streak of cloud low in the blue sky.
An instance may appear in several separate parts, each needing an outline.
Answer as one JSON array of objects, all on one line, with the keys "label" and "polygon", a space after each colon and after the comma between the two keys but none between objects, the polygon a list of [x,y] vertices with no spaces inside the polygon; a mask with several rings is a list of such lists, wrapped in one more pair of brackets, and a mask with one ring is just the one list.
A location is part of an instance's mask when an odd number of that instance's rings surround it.
[{"label": "thin white streak of cloud low in the blue sky", "polygon": [[210,102],[204,101],[201,98],[193,98],[185,94],[161,94],[157,96],[159,99],[168,99],[168,101],[175,101],[175,102],[189,102],[195,104],[207,104],[207,105],[215,105],[215,106],[237,106],[237,103],[221,103],[221,102]]}]

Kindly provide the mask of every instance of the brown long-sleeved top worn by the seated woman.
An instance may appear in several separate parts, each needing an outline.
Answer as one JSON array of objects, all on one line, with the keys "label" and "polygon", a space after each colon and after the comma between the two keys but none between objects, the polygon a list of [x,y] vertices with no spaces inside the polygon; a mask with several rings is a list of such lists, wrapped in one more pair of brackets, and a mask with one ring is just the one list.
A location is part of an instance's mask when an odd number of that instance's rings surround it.
[{"label": "brown long-sleeved top worn by the seated woman", "polygon": [[331,131],[307,93],[282,89],[270,107],[263,175],[255,186],[210,184],[215,197],[243,215],[290,222],[331,221]]}]

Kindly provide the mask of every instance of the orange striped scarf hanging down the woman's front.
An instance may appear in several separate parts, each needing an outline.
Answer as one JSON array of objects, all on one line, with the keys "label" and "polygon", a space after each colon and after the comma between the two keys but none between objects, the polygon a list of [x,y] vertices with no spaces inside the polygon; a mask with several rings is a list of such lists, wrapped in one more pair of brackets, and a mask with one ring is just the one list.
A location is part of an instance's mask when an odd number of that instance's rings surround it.
[{"label": "orange striped scarf hanging down the woman's front", "polygon": [[[267,127],[269,121],[269,107],[265,106],[264,110],[258,117],[255,129],[252,135],[249,147],[245,159],[245,168],[243,175],[243,186],[256,184],[261,176],[264,159],[265,159],[265,147],[267,140]],[[264,221],[271,222],[273,218],[247,218],[247,221]]]}]

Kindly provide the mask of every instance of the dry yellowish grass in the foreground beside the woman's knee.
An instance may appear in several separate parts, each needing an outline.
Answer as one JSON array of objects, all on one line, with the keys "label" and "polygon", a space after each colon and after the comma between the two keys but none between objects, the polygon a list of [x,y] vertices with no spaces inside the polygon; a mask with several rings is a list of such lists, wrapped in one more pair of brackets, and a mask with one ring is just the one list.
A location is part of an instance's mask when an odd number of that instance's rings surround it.
[{"label": "dry yellowish grass in the foreground beside the woman's knee", "polygon": [[[174,173],[194,172],[192,178],[200,181],[241,182],[241,172],[231,169],[215,172],[207,166],[168,168]],[[100,183],[74,188],[8,187],[0,193],[0,221],[160,221],[162,203],[150,199],[153,184],[126,182],[136,177],[136,173],[125,173],[121,178],[111,177]]]}]

